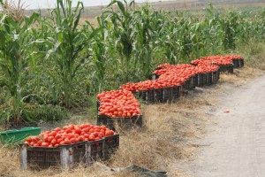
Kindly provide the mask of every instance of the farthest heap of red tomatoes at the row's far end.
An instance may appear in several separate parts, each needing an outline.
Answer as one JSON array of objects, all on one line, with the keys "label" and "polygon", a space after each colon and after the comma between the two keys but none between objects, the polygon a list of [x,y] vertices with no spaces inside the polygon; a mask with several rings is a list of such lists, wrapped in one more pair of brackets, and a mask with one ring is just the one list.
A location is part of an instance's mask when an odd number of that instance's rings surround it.
[{"label": "farthest heap of red tomatoes at the row's far end", "polygon": [[229,56],[208,56],[199,59],[195,59],[191,62],[193,65],[198,64],[215,64],[215,65],[231,65],[232,59],[243,59],[241,56],[229,55]]}]

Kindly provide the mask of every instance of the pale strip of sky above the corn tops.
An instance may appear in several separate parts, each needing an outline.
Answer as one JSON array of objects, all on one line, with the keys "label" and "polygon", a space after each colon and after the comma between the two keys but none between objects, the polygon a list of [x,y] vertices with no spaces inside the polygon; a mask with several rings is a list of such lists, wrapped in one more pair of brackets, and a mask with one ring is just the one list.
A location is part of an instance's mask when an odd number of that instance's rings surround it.
[{"label": "pale strip of sky above the corn tops", "polygon": [[[18,2],[18,0],[13,0]],[[47,9],[54,8],[57,0],[21,0],[24,3],[26,9]],[[106,5],[110,4],[111,0],[72,0],[72,4],[77,4],[78,1],[82,1],[85,6],[95,6],[95,5]],[[158,2],[166,0],[148,0],[148,2]],[[136,3],[147,2],[147,0],[135,0]]]}]

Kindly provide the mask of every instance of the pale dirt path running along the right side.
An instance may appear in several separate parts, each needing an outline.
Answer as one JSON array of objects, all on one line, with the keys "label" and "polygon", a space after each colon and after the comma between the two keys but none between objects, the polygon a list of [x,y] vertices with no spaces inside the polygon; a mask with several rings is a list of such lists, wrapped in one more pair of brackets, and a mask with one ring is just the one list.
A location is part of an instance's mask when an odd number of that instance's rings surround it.
[{"label": "pale dirt path running along the right side", "polygon": [[198,158],[178,167],[194,177],[265,176],[265,76],[219,97]]}]

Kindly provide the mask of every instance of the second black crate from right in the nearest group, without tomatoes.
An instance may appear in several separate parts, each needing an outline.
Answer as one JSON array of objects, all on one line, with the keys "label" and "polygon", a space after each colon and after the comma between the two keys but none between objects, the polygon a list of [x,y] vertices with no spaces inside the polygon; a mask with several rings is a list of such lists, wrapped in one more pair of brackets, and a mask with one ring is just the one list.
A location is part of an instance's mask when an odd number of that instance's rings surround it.
[{"label": "second black crate from right in the nearest group, without tomatoes", "polygon": [[103,158],[103,139],[87,142],[87,164],[93,164]]}]

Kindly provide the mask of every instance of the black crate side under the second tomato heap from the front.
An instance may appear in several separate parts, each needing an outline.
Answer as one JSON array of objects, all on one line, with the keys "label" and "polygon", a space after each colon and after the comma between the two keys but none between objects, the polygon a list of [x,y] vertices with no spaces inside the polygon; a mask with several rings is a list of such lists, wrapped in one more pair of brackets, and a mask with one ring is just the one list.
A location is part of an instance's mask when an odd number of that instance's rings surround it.
[{"label": "black crate side under the second tomato heap from the front", "polygon": [[97,117],[97,125],[104,125],[111,130],[115,130],[116,126],[120,128],[142,127],[142,115],[134,115],[130,118],[110,118],[105,115],[99,115]]}]

